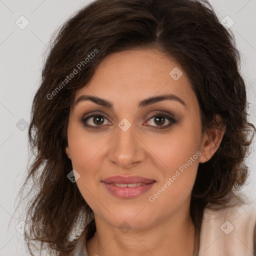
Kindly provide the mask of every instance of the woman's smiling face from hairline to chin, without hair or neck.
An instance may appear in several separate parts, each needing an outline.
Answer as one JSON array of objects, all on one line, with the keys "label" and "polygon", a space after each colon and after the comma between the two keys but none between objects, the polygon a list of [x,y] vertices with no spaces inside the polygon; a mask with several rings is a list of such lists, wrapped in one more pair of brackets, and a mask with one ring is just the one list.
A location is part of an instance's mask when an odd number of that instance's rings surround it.
[{"label": "woman's smiling face from hairline to chin, without hair or neck", "polygon": [[139,229],[185,216],[205,160],[198,101],[180,65],[155,49],[117,52],[77,99],[66,154],[95,219]]}]

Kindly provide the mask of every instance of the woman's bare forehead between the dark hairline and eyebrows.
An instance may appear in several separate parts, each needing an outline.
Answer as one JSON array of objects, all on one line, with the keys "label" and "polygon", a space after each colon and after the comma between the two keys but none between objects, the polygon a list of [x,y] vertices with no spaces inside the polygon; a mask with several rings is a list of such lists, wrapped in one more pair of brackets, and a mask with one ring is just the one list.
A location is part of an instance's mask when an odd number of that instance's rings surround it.
[{"label": "woman's bare forehead between the dark hairline and eyebrows", "polygon": [[104,58],[75,98],[89,94],[127,103],[164,93],[176,94],[184,101],[196,99],[186,74],[174,59],[157,49],[132,49]]}]

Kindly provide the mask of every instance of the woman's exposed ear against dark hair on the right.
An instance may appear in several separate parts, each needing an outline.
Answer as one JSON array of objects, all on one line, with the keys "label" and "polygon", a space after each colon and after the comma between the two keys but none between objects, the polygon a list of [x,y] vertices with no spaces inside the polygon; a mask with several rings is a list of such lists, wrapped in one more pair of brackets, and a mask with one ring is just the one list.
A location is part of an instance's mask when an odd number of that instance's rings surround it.
[{"label": "woman's exposed ear against dark hair on the right", "polygon": [[[216,116],[216,119],[219,121],[220,117]],[[225,129],[226,126],[221,124],[218,127],[207,128],[207,130],[204,132],[200,147],[200,163],[208,161],[217,151],[223,138]]]}]

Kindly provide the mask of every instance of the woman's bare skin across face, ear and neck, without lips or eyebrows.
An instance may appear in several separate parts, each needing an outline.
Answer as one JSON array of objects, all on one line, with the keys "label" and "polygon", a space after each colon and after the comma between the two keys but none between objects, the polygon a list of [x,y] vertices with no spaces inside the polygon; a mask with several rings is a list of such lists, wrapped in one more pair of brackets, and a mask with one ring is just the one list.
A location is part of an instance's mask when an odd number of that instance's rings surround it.
[{"label": "woman's bare skin across face, ear and neck, without lips or eyebrows", "polygon": [[[177,80],[169,75],[174,67],[183,73]],[[138,107],[142,99],[169,93],[186,105],[161,100]],[[100,63],[86,86],[76,92],[75,100],[80,95],[97,96],[113,104],[110,110],[90,100],[80,101],[69,114],[65,152],[79,173],[75,174],[77,186],[96,223],[94,236],[86,241],[88,255],[192,256],[191,189],[198,164],[215,153],[224,131],[210,128],[201,133],[199,104],[181,66],[157,49],[117,52]],[[156,130],[161,125],[151,116],[158,110],[176,122]],[[98,111],[105,116],[100,128],[85,127],[82,117]],[[123,118],[131,124],[125,132],[118,126]],[[170,122],[163,121],[163,125]],[[87,124],[99,125],[95,117]],[[197,159],[155,201],[149,201],[197,151]],[[124,199],[112,195],[101,182],[112,175],[139,175],[156,182],[139,196]],[[125,233],[118,228],[123,221],[130,227]]]}]

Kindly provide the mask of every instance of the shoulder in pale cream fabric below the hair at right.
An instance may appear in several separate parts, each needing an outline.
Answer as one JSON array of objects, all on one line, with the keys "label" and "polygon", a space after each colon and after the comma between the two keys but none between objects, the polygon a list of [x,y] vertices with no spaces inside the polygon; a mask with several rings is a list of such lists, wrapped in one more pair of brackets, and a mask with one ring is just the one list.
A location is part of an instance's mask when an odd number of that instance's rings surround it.
[{"label": "shoulder in pale cream fabric below the hair at right", "polygon": [[256,200],[223,207],[205,208],[200,231],[199,255],[253,256]]}]

